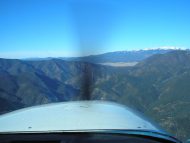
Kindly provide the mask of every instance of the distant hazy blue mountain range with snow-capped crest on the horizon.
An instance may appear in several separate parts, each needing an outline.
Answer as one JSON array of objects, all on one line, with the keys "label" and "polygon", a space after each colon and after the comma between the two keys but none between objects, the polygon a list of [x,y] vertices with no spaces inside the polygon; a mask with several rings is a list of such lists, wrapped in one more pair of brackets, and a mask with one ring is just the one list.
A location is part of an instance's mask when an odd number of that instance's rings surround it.
[{"label": "distant hazy blue mountain range with snow-capped crest on the horizon", "polygon": [[[60,57],[58,59],[66,61],[83,61],[90,63],[117,63],[117,62],[139,62],[155,54],[164,54],[175,49],[145,49],[145,50],[132,50],[132,51],[117,51],[109,52],[99,55],[90,55],[84,57]],[[24,60],[28,61],[40,61],[40,60],[50,60],[48,58],[27,58]]]}]

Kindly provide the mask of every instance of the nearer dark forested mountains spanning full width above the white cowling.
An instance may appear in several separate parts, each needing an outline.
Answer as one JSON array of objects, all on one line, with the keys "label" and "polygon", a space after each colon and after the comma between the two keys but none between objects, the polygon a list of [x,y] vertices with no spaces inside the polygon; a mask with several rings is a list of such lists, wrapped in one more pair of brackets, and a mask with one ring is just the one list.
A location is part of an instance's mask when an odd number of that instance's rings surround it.
[{"label": "nearer dark forested mountains spanning full width above the white cowling", "polygon": [[135,108],[183,141],[190,132],[189,87],[188,50],[154,54],[133,67],[0,59],[1,113],[50,102],[109,100]]}]

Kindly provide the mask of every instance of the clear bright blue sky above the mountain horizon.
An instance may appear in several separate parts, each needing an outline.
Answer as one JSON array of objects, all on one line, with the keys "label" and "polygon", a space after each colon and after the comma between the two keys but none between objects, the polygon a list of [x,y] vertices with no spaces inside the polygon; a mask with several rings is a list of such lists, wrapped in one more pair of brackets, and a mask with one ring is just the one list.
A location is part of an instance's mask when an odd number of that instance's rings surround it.
[{"label": "clear bright blue sky above the mountain horizon", "polygon": [[190,0],[0,0],[0,58],[190,48]]}]

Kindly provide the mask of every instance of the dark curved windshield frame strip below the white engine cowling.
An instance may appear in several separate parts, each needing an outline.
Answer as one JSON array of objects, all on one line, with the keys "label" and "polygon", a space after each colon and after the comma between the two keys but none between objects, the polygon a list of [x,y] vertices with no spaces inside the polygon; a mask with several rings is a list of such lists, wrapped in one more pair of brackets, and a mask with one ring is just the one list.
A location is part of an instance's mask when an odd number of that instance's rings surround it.
[{"label": "dark curved windshield frame strip below the white engine cowling", "polygon": [[[63,138],[64,136],[72,135],[121,135],[121,136],[131,136],[138,138],[148,138],[153,141],[168,142],[168,143],[181,143],[177,138],[170,136],[168,134],[159,133],[151,130],[75,130],[75,131],[46,131],[46,132],[4,132],[0,133],[0,143],[1,141],[8,140],[22,140],[22,139],[54,139]],[[43,137],[44,136],[44,137]],[[47,138],[46,138],[47,137]]]}]

